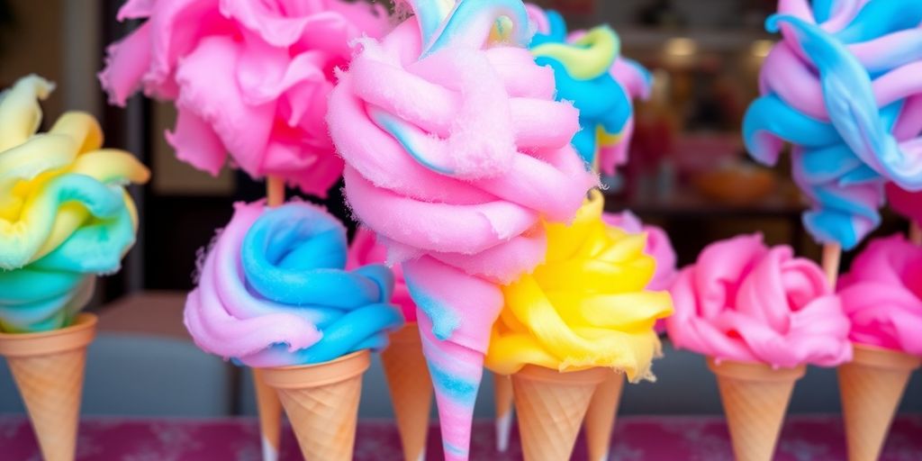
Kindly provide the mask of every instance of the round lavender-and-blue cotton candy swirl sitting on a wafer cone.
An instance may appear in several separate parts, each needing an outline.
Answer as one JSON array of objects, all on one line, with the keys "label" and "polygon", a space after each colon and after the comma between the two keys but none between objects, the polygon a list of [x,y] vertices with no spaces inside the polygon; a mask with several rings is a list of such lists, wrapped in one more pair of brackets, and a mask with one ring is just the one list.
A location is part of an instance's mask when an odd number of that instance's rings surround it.
[{"label": "round lavender-and-blue cotton candy swirl sitting on a wafer cone", "polygon": [[346,229],[320,207],[238,203],[200,268],[185,325],[207,352],[252,367],[382,349],[403,323],[387,267],[346,266]]}]

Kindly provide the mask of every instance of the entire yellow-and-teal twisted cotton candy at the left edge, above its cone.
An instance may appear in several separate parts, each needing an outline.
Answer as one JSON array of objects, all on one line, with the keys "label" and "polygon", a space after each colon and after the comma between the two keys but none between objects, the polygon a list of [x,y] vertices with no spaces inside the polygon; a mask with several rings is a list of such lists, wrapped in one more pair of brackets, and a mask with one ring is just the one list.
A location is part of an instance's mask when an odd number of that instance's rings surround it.
[{"label": "entire yellow-and-teal twisted cotton candy at the left edge, above its cone", "polygon": [[0,330],[68,325],[135,242],[127,183],[148,170],[131,154],[102,149],[89,114],[67,112],[48,133],[38,100],[53,85],[20,79],[0,93]]}]

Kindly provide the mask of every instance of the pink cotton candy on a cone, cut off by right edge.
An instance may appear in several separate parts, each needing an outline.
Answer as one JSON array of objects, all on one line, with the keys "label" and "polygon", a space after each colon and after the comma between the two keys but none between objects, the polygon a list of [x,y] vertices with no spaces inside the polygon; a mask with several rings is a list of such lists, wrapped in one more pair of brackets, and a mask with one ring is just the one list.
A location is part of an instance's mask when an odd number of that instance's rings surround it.
[{"label": "pink cotton candy on a cone, cut off by right edge", "polygon": [[902,235],[869,242],[839,296],[852,341],[922,356],[922,247]]}]

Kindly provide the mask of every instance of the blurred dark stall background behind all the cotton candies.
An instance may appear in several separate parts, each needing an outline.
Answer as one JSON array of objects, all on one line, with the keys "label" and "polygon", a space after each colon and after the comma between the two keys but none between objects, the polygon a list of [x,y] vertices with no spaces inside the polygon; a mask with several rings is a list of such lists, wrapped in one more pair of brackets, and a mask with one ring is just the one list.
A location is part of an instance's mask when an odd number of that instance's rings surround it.
[{"label": "blurred dark stall background behind all the cotton candies", "polygon": [[[135,97],[124,109],[107,104],[96,73],[104,47],[136,27],[114,20],[119,0],[0,0],[0,88],[29,73],[57,83],[43,107],[47,129],[62,112],[100,119],[106,145],[134,152],[153,179],[135,188],[141,217],[138,243],[118,275],[104,278],[90,309],[101,315],[93,345],[85,412],[172,416],[252,414],[248,372],[195,349],[182,325],[184,292],[192,287],[196,252],[231,218],[231,204],[265,194],[264,185],[236,171],[217,177],[175,160],[164,141],[171,106]],[[765,169],[748,160],[739,125],[758,94],[758,71],[773,44],[763,31],[772,0],[553,0],[573,28],[611,24],[622,54],[655,76],[649,100],[638,102],[631,160],[605,178],[610,210],[631,209],[662,226],[691,263],[704,245],[742,232],[791,244],[819,258],[820,247],[800,223],[804,202],[789,165]],[[220,76],[216,76],[220,78]],[[786,156],[782,156],[786,159]],[[327,206],[349,221],[339,186]],[[290,191],[290,195],[293,194]],[[905,231],[884,210],[876,235]],[[847,267],[849,257],[845,255]],[[703,360],[667,350],[656,384],[629,386],[625,413],[719,413],[715,381]],[[922,412],[916,373],[904,410]],[[491,415],[489,381],[480,416]],[[798,384],[794,412],[837,412],[833,371],[811,369]],[[0,412],[22,411],[0,368]],[[366,376],[363,417],[390,413],[380,368]]]}]

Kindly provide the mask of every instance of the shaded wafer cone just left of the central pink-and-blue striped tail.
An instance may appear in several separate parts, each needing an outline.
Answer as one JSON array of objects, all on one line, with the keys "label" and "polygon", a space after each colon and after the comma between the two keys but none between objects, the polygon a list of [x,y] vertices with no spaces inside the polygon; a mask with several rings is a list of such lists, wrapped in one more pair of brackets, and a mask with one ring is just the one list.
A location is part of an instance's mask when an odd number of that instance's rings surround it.
[{"label": "shaded wafer cone just left of the central pink-and-blue striped tail", "polygon": [[403,444],[404,459],[425,459],[432,405],[432,381],[422,355],[420,330],[405,325],[390,336],[391,345],[381,352],[387,386],[394,402],[394,415]]}]

